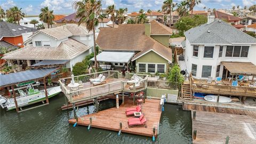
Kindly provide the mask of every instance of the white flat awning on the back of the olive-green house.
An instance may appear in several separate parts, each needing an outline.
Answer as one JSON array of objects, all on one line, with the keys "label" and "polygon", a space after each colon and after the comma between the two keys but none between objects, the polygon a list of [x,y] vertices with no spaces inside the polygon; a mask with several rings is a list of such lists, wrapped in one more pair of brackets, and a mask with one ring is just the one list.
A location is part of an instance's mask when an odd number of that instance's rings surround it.
[{"label": "white flat awning on the back of the olive-green house", "polygon": [[[134,52],[103,51],[97,55],[97,61],[127,63],[132,59],[133,55],[134,55]],[[92,58],[91,61],[94,61],[94,58]]]}]

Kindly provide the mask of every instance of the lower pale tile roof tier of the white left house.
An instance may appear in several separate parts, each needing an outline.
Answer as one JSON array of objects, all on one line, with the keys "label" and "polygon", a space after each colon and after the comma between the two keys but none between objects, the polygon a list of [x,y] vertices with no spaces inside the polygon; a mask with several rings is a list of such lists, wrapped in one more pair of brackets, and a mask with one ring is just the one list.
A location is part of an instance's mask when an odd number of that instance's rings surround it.
[{"label": "lower pale tile roof tier of the white left house", "polygon": [[71,60],[89,49],[89,46],[68,38],[68,40],[61,42],[58,47],[28,45],[22,49],[4,54],[2,59]]}]

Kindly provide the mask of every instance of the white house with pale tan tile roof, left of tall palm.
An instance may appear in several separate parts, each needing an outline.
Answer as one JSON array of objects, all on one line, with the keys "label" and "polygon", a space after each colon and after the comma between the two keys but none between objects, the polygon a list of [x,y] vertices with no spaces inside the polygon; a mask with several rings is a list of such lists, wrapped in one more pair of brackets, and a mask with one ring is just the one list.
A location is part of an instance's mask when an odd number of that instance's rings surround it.
[{"label": "white house with pale tan tile roof, left of tall palm", "polygon": [[[9,65],[32,66],[44,60],[67,61],[66,67],[81,62],[92,53],[93,34],[83,26],[68,24],[51,29],[41,29],[31,35],[25,47],[4,54]],[[25,66],[24,66],[25,65]]]}]

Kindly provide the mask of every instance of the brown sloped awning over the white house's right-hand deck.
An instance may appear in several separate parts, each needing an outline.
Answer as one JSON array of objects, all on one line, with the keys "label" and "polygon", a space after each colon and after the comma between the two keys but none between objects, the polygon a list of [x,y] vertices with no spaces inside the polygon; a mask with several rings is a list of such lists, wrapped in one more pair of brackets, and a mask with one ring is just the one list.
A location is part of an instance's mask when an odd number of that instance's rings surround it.
[{"label": "brown sloped awning over the white house's right-hand deck", "polygon": [[256,75],[256,66],[251,62],[221,62],[231,75]]}]

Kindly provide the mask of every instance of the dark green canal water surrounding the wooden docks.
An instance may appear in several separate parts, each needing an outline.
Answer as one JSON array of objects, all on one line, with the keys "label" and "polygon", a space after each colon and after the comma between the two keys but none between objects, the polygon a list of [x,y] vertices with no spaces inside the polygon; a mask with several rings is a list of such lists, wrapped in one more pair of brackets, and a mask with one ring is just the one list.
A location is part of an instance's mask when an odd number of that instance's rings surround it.
[{"label": "dark green canal water surrounding the wooden docks", "polygon": [[[60,110],[63,94],[50,99],[50,105],[16,113],[1,109],[0,143],[153,143],[152,138],[68,124],[73,111]],[[115,106],[115,100],[100,102],[100,109]],[[165,104],[155,143],[191,143],[189,111]],[[94,106],[79,108],[78,115],[93,113]]]}]

